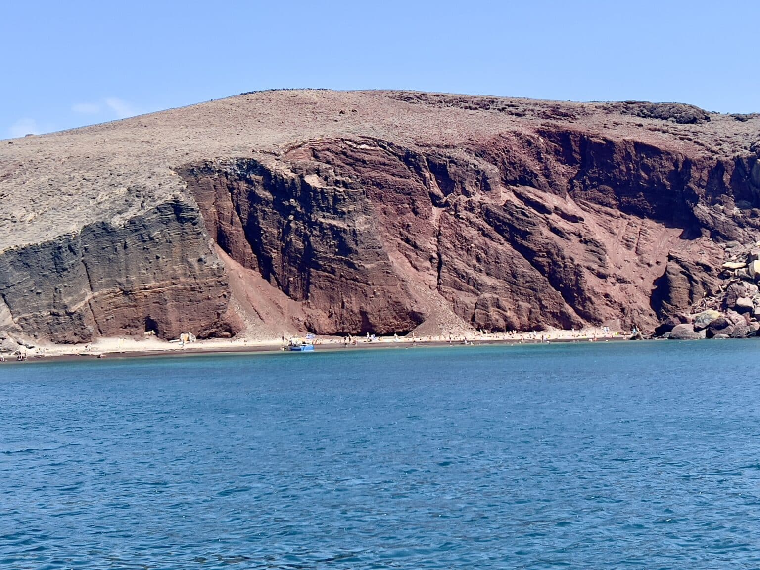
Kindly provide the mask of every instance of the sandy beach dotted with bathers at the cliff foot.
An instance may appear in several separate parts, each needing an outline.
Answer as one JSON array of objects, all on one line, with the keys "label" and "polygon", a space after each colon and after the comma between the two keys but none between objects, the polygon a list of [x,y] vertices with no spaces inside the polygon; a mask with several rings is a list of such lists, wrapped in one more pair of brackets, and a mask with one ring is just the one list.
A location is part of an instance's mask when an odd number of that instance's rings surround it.
[{"label": "sandy beach dotted with bathers at the cliff foot", "polygon": [[[355,348],[432,347],[449,344],[541,344],[556,342],[595,342],[628,340],[630,334],[606,332],[603,328],[581,331],[543,331],[511,333],[473,333],[437,336],[404,337],[329,337],[313,340],[316,351],[350,350]],[[15,363],[18,357],[26,361],[53,359],[93,359],[138,356],[171,356],[203,353],[254,353],[285,350],[287,338],[268,339],[208,339],[182,343],[179,340],[161,340],[153,336],[144,338],[104,337],[88,344],[39,344],[33,348],[21,347],[12,353],[0,353],[4,363]]]}]

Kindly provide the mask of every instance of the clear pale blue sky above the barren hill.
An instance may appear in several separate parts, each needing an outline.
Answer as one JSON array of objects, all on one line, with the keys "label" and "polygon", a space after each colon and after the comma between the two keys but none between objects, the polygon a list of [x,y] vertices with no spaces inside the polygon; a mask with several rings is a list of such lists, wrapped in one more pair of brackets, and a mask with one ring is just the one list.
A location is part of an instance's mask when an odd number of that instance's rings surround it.
[{"label": "clear pale blue sky above the barren hill", "polygon": [[760,112],[758,0],[7,0],[0,38],[0,138],[273,87]]}]

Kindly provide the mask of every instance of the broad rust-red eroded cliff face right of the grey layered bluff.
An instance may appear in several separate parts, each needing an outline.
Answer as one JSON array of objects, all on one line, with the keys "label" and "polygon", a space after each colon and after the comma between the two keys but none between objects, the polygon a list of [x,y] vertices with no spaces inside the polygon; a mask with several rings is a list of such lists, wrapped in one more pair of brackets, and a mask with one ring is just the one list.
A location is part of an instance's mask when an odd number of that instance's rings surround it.
[{"label": "broad rust-red eroded cliff face right of the grey layered bluff", "polygon": [[[307,324],[321,333],[408,331],[429,318],[413,294],[420,286],[462,321],[496,331],[610,319],[653,327],[717,290],[719,257],[669,252],[659,277],[647,267],[648,240],[663,226],[691,240],[747,231],[699,219],[706,198],[686,159],[578,133],[541,135],[500,137],[466,154],[321,139],[268,166],[244,160],[182,174],[223,249],[305,302]],[[531,160],[514,156],[526,148]],[[629,259],[615,263],[600,230],[621,214],[614,247]],[[641,273],[651,278],[637,283]],[[610,281],[623,286],[618,294]]]}]

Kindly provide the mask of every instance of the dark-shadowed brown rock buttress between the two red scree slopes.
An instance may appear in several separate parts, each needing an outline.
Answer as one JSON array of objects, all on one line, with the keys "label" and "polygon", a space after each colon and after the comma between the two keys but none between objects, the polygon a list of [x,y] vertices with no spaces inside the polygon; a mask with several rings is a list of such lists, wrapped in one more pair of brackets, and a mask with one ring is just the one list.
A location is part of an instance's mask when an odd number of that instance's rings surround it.
[{"label": "dark-shadowed brown rock buttress between the two red scree slopes", "polygon": [[321,333],[411,331],[423,321],[394,275],[360,188],[254,160],[183,171],[207,229],[245,268],[306,306]]}]

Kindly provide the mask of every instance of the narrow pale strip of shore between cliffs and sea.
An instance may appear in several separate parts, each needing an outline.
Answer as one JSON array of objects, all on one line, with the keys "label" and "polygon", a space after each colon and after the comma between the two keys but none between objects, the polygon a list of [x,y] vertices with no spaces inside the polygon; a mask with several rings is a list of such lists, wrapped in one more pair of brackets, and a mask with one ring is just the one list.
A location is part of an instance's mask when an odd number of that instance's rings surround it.
[{"label": "narrow pale strip of shore between cliffs and sea", "polygon": [[[489,346],[519,344],[580,344],[587,342],[619,342],[631,340],[621,334],[609,334],[597,336],[584,334],[585,331],[554,331],[542,336],[532,333],[524,334],[481,334],[473,337],[457,336],[451,340],[439,337],[377,337],[368,341],[365,337],[356,338],[356,344],[350,342],[347,346],[343,337],[316,337],[315,352],[333,352],[337,350],[351,349],[375,349],[375,348],[411,348],[411,347],[447,347],[447,346]],[[466,342],[465,342],[466,339]],[[157,339],[128,339],[106,338],[87,345],[45,345],[19,351],[26,353],[27,358],[17,360],[15,353],[4,353],[5,362],[30,363],[30,362],[56,362],[65,360],[93,360],[93,359],[123,359],[143,358],[151,356],[197,356],[203,354],[234,354],[234,353],[279,353],[283,350],[283,342],[279,340],[198,340],[182,346],[176,342]]]}]

